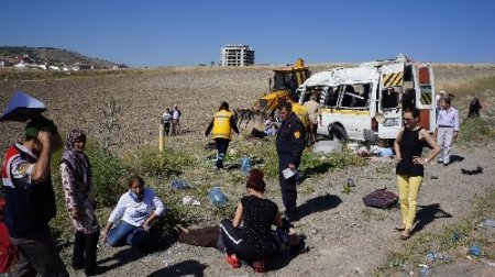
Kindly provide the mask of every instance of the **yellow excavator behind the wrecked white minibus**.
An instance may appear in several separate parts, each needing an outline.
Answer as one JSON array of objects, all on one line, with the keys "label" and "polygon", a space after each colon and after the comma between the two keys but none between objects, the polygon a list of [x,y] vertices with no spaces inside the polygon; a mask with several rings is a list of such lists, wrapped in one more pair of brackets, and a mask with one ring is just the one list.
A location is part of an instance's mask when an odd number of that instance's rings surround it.
[{"label": "yellow excavator behind the wrecked white minibus", "polygon": [[294,66],[275,69],[274,73],[273,78],[270,79],[270,92],[265,92],[258,102],[260,109],[265,111],[266,115],[271,115],[289,93],[296,93],[296,89],[311,75],[302,58],[298,58]]}]

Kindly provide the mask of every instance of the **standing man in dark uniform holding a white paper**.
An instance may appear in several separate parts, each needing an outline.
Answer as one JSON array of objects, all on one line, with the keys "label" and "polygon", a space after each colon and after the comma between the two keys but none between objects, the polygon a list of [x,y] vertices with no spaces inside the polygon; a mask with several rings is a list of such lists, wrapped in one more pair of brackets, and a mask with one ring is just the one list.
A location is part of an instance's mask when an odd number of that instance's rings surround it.
[{"label": "standing man in dark uniform holding a white paper", "polygon": [[277,132],[278,176],[282,190],[282,200],[285,207],[285,215],[289,221],[299,220],[297,214],[297,174],[285,178],[283,170],[289,168],[296,171],[300,165],[300,156],[305,149],[306,128],[293,112],[290,103],[282,103],[279,115],[283,120]]}]

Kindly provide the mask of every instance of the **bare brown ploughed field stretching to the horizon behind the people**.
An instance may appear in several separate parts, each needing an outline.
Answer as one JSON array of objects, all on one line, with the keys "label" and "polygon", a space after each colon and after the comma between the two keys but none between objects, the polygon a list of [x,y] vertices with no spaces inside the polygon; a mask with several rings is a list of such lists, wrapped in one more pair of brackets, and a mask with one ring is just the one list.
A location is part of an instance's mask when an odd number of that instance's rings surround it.
[{"label": "bare brown ploughed field stretching to the horizon behind the people", "polygon": [[[319,65],[311,70],[336,66],[342,65]],[[6,107],[13,91],[20,89],[45,102],[47,115],[61,130],[80,126],[90,136],[98,137],[105,121],[101,109],[108,109],[114,99],[121,108],[118,114],[121,129],[116,133],[121,148],[157,145],[158,119],[165,108],[177,104],[183,112],[185,135],[178,140],[200,137],[221,101],[228,101],[232,108],[251,107],[267,90],[273,68],[130,69],[63,78],[28,75],[31,79],[22,79],[21,73],[0,71],[0,107]],[[437,90],[451,91],[459,82],[495,75],[495,66],[438,65],[435,73]],[[454,104],[461,108],[466,106],[463,96],[476,93],[463,89],[453,89],[460,96]],[[0,148],[4,149],[12,141],[12,133],[20,133],[22,124],[2,123],[1,129],[13,131],[0,134]]]}]

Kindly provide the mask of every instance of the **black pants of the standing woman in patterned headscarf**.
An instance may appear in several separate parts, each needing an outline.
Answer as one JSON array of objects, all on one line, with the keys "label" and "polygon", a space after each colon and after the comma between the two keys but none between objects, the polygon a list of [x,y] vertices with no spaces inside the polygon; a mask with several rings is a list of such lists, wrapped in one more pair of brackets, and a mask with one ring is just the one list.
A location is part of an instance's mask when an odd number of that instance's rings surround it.
[{"label": "black pants of the standing woman in patterned headscarf", "polygon": [[73,267],[85,268],[87,274],[96,270],[97,245],[100,237],[99,232],[85,234],[77,231],[74,241]]}]

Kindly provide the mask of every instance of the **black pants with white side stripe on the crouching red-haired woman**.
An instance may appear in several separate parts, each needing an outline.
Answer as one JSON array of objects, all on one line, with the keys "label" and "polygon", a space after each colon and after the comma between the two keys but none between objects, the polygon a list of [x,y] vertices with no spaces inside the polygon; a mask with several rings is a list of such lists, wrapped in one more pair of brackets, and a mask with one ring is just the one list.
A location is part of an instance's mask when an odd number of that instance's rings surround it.
[{"label": "black pants with white side stripe on the crouching red-haired woman", "polygon": [[275,245],[273,250],[257,250],[256,247],[245,243],[240,236],[240,230],[232,225],[232,221],[224,219],[220,222],[220,232],[222,234],[223,243],[226,244],[226,252],[229,255],[235,254],[239,258],[254,262],[265,259],[275,254]]}]

